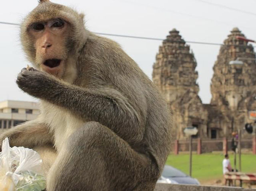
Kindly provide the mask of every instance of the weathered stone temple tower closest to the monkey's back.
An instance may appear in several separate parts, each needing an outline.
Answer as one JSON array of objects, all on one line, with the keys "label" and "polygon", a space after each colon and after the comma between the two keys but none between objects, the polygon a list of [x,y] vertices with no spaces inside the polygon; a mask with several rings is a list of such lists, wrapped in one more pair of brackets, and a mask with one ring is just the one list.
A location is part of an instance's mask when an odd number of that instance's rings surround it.
[{"label": "weathered stone temple tower closest to the monkey's back", "polygon": [[195,126],[198,136],[206,136],[207,110],[198,96],[196,59],[176,29],[159,47],[153,65],[153,82],[173,112],[177,139],[184,139],[184,128]]}]

